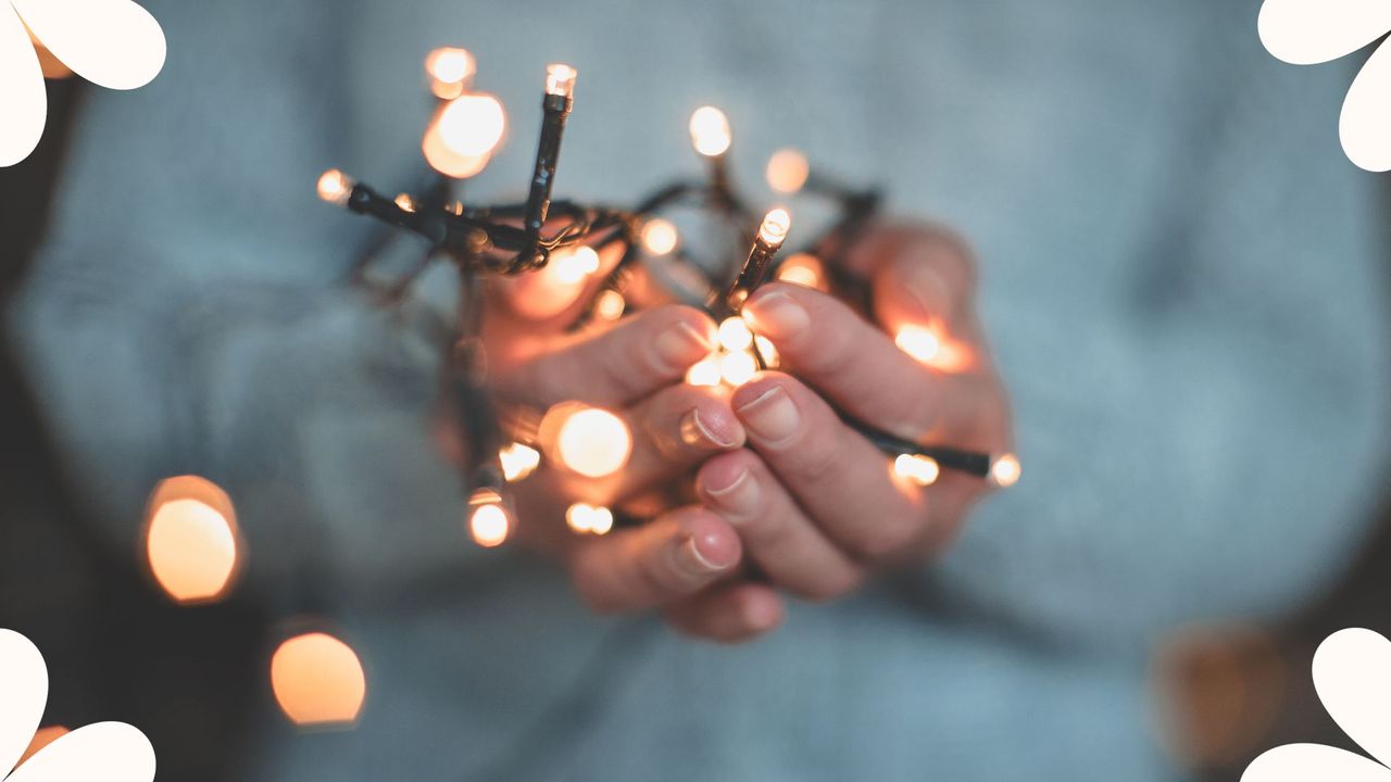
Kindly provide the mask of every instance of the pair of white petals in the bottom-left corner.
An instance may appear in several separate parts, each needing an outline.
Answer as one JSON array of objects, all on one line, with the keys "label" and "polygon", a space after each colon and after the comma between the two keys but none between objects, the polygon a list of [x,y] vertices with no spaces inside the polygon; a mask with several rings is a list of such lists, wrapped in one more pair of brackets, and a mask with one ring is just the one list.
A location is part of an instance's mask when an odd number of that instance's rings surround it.
[{"label": "pair of white petals in the bottom-left corner", "polygon": [[[14,768],[39,728],[49,699],[43,655],[14,630],[0,629],[0,779],[6,782],[150,782],[154,749],[125,722],[95,722],[65,733]],[[4,774],[14,768],[14,772]]]}]

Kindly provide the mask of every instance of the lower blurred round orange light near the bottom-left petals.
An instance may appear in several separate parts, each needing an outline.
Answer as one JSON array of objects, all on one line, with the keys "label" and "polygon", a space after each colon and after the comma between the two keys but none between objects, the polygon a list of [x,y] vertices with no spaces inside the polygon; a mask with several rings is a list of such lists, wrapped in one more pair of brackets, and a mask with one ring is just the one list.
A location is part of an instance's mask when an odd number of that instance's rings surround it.
[{"label": "lower blurred round orange light near the bottom-left petals", "polygon": [[357,654],[328,633],[305,633],[280,644],[270,658],[275,703],[295,725],[348,725],[367,697]]}]

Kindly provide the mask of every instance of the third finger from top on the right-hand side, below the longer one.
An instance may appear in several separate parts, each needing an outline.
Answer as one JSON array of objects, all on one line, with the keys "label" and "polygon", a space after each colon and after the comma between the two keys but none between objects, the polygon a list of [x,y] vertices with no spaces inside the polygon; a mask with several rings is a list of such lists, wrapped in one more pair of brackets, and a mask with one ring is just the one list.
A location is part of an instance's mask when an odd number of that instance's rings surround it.
[{"label": "third finger from top on the right-hand side, below the longer one", "polygon": [[746,558],[778,586],[819,601],[860,584],[862,568],[826,538],[754,452],[739,449],[709,459],[696,487],[739,530]]}]

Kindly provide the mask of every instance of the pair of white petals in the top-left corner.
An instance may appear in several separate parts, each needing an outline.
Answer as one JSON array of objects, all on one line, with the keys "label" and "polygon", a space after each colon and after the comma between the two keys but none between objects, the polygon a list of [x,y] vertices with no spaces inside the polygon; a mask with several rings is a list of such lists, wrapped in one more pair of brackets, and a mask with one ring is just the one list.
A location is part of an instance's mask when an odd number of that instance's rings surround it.
[{"label": "pair of white petals in the top-left corner", "polygon": [[64,65],[104,88],[143,86],[164,67],[164,31],[131,0],[0,0],[0,167],[33,152],[49,114],[31,31]]}]

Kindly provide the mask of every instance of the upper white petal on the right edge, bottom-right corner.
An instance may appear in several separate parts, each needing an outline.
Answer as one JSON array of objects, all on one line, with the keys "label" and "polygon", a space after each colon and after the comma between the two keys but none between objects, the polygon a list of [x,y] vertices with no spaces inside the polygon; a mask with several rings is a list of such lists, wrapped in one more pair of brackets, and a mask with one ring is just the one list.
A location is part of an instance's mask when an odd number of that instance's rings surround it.
[{"label": "upper white petal on the right edge, bottom-right corner", "polygon": [[1328,636],[1313,655],[1313,686],[1349,739],[1391,760],[1391,640],[1362,628]]}]

